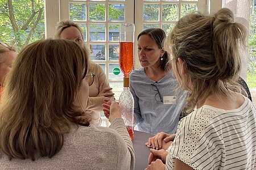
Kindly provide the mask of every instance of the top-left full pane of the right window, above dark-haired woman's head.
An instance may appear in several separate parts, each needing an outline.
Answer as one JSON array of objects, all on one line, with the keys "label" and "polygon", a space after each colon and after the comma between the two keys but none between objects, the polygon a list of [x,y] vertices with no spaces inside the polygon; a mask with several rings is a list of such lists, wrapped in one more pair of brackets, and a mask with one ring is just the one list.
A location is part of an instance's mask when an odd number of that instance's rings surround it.
[{"label": "top-left full pane of the right window, above dark-haired woman's head", "polygon": [[159,5],[146,4],[143,5],[143,20],[144,21],[158,21]]}]

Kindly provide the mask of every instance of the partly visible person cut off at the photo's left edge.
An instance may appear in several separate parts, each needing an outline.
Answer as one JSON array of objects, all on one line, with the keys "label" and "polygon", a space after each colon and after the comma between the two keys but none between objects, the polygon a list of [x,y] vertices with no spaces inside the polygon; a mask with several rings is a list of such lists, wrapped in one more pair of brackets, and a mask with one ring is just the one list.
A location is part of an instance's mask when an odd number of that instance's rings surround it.
[{"label": "partly visible person cut off at the photo's left edge", "polygon": [[0,42],[0,96],[5,81],[6,74],[16,58],[16,49],[4,42]]}]

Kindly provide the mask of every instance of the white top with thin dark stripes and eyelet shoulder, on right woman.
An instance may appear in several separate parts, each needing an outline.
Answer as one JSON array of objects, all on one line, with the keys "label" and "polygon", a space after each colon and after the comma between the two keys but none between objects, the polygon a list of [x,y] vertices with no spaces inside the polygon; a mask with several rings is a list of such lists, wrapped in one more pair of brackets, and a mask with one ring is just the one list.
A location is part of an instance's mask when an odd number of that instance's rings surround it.
[{"label": "white top with thin dark stripes and eyelet shoulder, on right woman", "polygon": [[256,110],[247,97],[238,109],[204,105],[184,117],[167,149],[166,169],[174,158],[193,169],[256,169]]}]

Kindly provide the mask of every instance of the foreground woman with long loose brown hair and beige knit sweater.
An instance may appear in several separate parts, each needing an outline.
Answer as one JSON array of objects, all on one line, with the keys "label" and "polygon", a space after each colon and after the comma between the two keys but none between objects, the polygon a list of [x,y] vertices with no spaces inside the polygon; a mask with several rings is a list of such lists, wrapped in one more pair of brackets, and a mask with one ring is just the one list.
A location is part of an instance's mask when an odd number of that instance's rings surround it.
[{"label": "foreground woman with long loose brown hair and beige knit sweater", "polygon": [[0,107],[0,169],[134,169],[113,97],[110,127],[89,125],[87,58],[68,40],[36,41],[19,53]]}]

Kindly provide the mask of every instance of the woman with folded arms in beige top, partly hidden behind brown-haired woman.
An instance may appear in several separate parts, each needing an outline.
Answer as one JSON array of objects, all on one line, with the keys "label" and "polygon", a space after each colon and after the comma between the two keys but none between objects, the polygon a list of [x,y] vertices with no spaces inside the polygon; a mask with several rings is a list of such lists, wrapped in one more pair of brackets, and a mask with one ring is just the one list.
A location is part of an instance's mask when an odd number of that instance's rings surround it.
[{"label": "woman with folded arms in beige top, partly hidden behind brown-haired woman", "polygon": [[[75,41],[85,52],[88,52],[84,43],[84,33],[81,27],[71,20],[64,20],[57,23],[55,38]],[[112,97],[114,94],[112,88],[109,87],[106,74],[100,65],[89,61],[88,71],[89,73],[86,75],[86,80],[88,80],[89,84],[89,100],[86,113],[92,114],[91,124],[100,126],[100,112],[102,111],[102,104],[104,104],[103,99],[109,99],[109,97]]]}]

